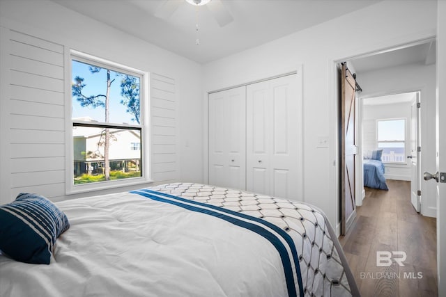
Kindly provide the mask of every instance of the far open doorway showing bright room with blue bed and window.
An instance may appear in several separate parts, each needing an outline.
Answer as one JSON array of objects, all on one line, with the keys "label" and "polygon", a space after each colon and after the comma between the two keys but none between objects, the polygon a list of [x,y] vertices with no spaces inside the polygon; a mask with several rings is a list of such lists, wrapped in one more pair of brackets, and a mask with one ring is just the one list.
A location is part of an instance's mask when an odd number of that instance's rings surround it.
[{"label": "far open doorway showing bright room with blue bed and window", "polygon": [[[360,182],[365,182],[362,186],[387,190],[388,179],[408,181],[411,203],[415,211],[420,213],[420,91],[360,97],[359,102],[361,113],[358,124],[362,157],[358,159],[362,163],[360,166],[364,168],[364,178]],[[381,152],[380,158],[369,161],[374,150]],[[364,163],[367,163],[367,170]],[[369,163],[383,168],[383,175],[378,176],[378,170],[369,170]],[[381,183],[380,180],[383,179]]]}]

